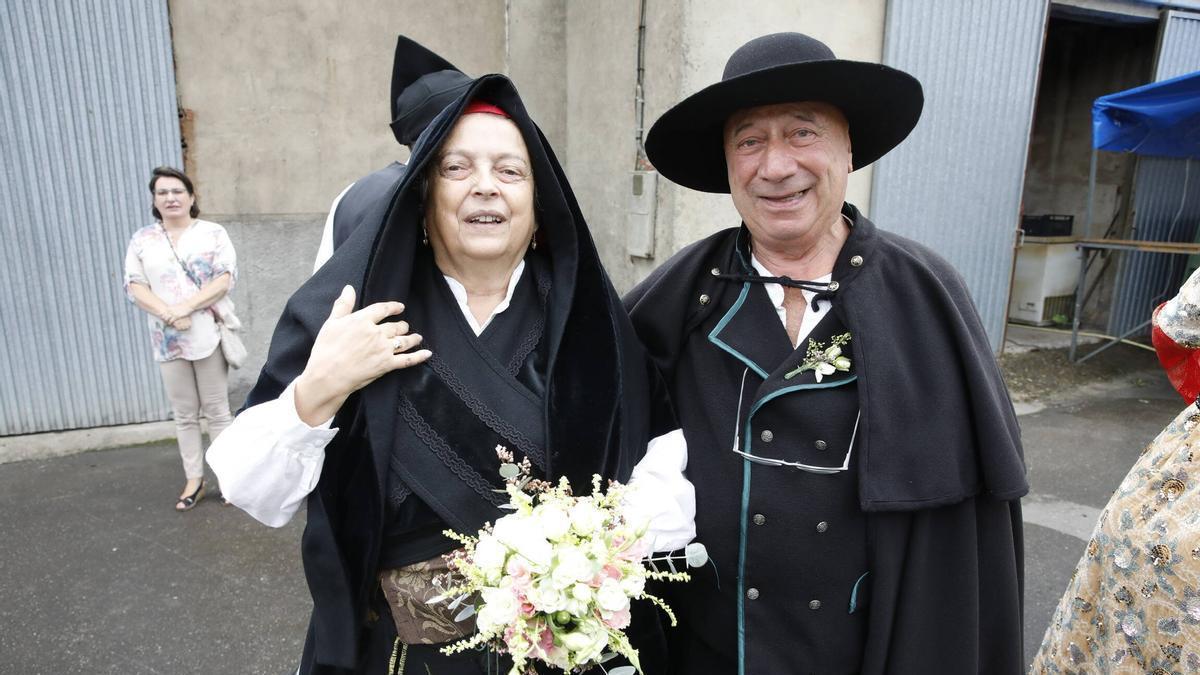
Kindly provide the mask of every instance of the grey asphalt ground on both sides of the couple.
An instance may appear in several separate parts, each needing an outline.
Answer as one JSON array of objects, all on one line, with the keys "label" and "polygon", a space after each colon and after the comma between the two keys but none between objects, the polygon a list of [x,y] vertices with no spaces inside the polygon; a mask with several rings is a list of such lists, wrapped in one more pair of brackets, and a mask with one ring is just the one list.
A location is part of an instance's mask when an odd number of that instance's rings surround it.
[{"label": "grey asphalt ground on both sides of the couple", "polygon": [[[1182,404],[1151,370],[1021,407],[1031,657],[1099,509]],[[179,488],[169,444],[0,465],[0,673],[294,667],[302,515],[270,530],[215,498],[176,514]]]}]

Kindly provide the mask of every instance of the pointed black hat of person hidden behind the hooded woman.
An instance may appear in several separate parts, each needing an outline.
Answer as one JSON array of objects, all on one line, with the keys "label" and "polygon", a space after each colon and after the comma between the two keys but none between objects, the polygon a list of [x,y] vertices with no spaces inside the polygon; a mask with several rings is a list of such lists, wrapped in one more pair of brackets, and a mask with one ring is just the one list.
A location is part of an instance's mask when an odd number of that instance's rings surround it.
[{"label": "pointed black hat of person hidden behind the hooded woman", "polygon": [[425,127],[470,86],[450,61],[401,35],[391,66],[391,132],[412,147]]}]

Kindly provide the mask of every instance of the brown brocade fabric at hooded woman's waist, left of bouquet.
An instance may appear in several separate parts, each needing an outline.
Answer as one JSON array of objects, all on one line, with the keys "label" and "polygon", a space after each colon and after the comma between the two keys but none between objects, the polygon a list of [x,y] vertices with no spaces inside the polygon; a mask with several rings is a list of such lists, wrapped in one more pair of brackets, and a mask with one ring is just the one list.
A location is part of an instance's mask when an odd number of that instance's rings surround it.
[{"label": "brown brocade fabric at hooded woman's waist, left of bouquet", "polygon": [[396,637],[407,645],[436,645],[467,637],[475,632],[475,617],[463,621],[454,617],[462,607],[449,609],[448,603],[430,604],[440,595],[433,578],[448,572],[442,556],[406,567],[385,569],[379,573],[379,586],[391,619],[396,623]]}]

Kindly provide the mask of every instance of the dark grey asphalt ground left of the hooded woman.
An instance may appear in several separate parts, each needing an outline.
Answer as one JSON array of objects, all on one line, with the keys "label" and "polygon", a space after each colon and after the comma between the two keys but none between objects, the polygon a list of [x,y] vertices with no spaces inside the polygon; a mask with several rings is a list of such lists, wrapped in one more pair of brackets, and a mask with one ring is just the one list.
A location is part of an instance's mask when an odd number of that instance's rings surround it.
[{"label": "dark grey asphalt ground left of the hooded woman", "polygon": [[302,524],[271,530],[217,498],[175,513],[181,477],[174,444],[0,466],[0,673],[293,664],[311,607]]}]

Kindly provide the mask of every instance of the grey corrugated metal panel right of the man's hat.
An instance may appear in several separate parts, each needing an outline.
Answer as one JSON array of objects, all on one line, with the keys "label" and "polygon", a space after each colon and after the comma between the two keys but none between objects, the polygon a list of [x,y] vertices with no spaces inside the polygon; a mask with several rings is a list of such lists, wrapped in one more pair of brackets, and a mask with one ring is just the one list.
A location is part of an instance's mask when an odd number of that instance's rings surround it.
[{"label": "grey corrugated metal panel right of the man's hat", "polygon": [[925,89],[912,136],[875,169],[871,219],[966,279],[998,350],[1046,0],[888,2],[883,62]]}]

